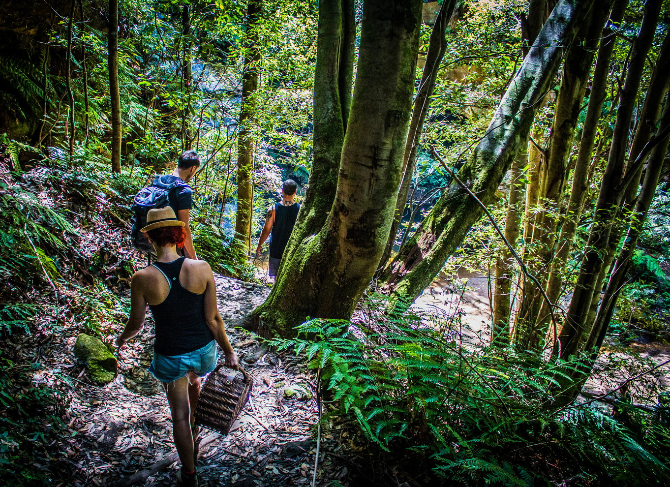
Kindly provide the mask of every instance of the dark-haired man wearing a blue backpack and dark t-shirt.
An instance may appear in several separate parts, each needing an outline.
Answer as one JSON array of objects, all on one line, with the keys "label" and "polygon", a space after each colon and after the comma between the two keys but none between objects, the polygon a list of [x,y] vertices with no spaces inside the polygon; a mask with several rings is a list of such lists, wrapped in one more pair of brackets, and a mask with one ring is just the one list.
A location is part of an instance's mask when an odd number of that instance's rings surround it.
[{"label": "dark-haired man wearing a blue backpack and dark t-shirt", "polygon": [[139,231],[146,225],[146,216],[152,208],[172,206],[178,220],[184,222],[186,240],[184,240],[184,256],[188,259],[198,259],[193,247],[193,237],[189,226],[190,210],[193,207],[193,190],[188,183],[200,167],[200,157],[194,150],[182,153],[177,160],[177,167],[170,174],[163,174],[153,178],[151,186],[142,188],[135,196],[133,204],[133,226],[131,238],[137,249],[153,253],[153,246],[146,236]]}]

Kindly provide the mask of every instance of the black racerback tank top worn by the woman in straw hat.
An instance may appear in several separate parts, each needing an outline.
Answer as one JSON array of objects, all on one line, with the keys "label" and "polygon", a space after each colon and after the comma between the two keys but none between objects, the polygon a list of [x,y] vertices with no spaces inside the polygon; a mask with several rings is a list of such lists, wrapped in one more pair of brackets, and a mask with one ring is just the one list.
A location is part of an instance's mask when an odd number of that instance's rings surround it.
[{"label": "black racerback tank top worn by the woman in straw hat", "polygon": [[154,262],[170,284],[170,293],[160,304],[149,305],[155,321],[153,350],[161,355],[181,355],[198,350],[214,340],[205,321],[205,293],[192,293],[179,281],[185,257],[172,262]]}]

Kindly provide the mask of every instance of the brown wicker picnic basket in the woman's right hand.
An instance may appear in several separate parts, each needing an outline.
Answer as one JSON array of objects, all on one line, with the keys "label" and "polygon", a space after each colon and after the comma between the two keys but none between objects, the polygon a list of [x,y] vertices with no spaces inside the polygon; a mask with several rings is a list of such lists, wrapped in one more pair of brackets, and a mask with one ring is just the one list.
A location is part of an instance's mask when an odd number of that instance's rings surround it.
[{"label": "brown wicker picnic basket in the woman's right hand", "polygon": [[224,435],[249,401],[253,379],[240,367],[217,366],[206,378],[196,404],[196,425]]}]

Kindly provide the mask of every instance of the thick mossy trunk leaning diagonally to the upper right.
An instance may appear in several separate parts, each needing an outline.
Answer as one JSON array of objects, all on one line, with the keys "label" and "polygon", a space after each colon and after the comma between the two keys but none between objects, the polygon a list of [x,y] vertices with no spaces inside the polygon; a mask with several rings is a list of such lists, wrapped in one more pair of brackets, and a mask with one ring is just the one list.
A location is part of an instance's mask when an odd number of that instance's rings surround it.
[{"label": "thick mossy trunk leaning diagonally to the upper right", "polygon": [[[537,104],[553,82],[563,52],[592,3],[592,0],[557,3],[502,98],[482,141],[460,169],[459,178],[484,205],[492,201],[525,141]],[[396,297],[417,297],[482,214],[482,208],[468,192],[458,182],[452,182],[387,268],[389,279],[385,289]]]}]

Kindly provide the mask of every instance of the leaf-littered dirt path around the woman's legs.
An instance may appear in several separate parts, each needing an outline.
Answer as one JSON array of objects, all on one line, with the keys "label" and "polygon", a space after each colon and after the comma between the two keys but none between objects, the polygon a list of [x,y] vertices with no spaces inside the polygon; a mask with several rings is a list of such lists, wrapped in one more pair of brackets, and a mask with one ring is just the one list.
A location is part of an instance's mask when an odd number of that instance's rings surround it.
[{"label": "leaf-littered dirt path around the woman's legs", "polygon": [[[239,318],[263,302],[269,288],[216,277],[224,320]],[[60,441],[62,456],[52,467],[71,480],[60,486],[112,486],[149,467],[174,451],[170,410],[162,388],[146,371],[151,361],[151,324],[121,352],[120,373],[105,387],[86,383],[80,364],[53,364],[47,375],[57,374],[73,385],[67,421],[72,431]],[[244,359],[257,343],[241,330],[228,330],[230,340]],[[74,338],[62,350],[72,350]],[[212,433],[200,450],[201,486],[301,486],[312,480],[317,422],[314,378],[293,362],[269,356],[245,365],[254,378],[253,393],[243,415],[227,436]],[[46,378],[45,378],[46,380]],[[288,387],[306,391],[306,398],[288,397]],[[207,437],[208,432],[201,433]],[[324,435],[324,458],[318,480],[344,479],[346,468],[334,464],[328,451],[335,447],[332,432]],[[330,446],[329,446],[330,445]],[[150,476],[143,485],[174,484],[174,462]]]}]

